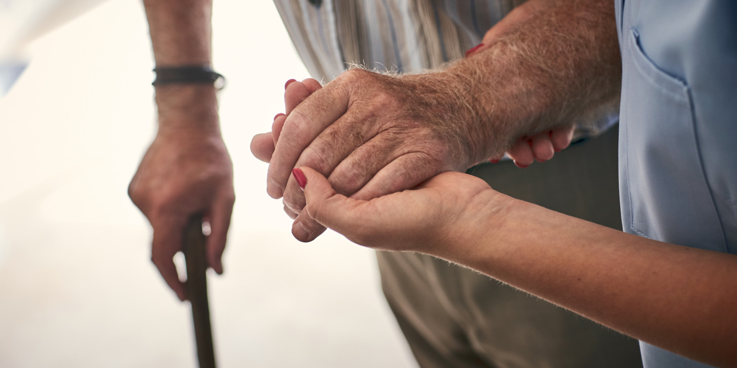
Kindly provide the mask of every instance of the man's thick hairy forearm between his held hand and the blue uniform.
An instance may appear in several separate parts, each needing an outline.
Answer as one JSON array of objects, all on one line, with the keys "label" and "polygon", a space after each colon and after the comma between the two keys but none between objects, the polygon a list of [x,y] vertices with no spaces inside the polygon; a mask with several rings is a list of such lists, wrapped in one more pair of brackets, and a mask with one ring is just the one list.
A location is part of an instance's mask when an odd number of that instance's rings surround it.
[{"label": "man's thick hairy forearm between his held hand and the blue uniform", "polygon": [[[618,105],[621,57],[614,6],[606,0],[527,1],[497,24],[484,46],[425,77],[448,93],[453,124],[469,137],[469,163],[495,157],[521,135],[594,121]],[[476,137],[476,138],[473,138]]]}]

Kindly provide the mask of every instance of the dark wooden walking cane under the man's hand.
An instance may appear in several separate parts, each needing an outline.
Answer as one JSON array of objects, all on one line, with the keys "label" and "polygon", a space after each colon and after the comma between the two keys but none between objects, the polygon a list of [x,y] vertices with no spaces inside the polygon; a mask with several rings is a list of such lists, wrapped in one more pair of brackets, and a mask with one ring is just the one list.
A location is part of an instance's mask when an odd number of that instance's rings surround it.
[{"label": "dark wooden walking cane under the man's hand", "polygon": [[184,228],[182,244],[182,252],[186,260],[186,294],[192,305],[200,368],[215,368],[210,307],[207,302],[205,241],[205,235],[202,233],[202,216],[193,216]]}]

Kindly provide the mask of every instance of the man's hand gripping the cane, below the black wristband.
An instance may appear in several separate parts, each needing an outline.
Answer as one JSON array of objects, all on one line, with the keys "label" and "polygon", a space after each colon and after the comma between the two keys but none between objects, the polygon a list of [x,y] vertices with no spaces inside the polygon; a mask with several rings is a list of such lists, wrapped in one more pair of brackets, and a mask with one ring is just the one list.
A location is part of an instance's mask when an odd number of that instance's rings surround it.
[{"label": "man's hand gripping the cane, below the black wristband", "polygon": [[217,273],[223,272],[221,258],[235,196],[231,159],[219,133],[160,128],[128,194],[153,227],[152,261],[181,300],[186,293],[172,258],[181,250],[190,216],[200,213],[209,221],[207,261]]}]

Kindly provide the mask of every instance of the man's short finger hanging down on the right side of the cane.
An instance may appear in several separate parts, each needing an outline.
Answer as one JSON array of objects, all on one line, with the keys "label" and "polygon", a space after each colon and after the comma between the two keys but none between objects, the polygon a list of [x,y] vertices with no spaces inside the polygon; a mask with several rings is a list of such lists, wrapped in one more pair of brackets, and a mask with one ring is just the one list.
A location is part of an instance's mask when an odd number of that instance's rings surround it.
[{"label": "man's short finger hanging down on the right side of the cane", "polygon": [[207,237],[207,263],[219,275],[223,274],[223,251],[226,249],[234,202],[235,195],[228,193],[217,200],[207,213],[211,229]]}]

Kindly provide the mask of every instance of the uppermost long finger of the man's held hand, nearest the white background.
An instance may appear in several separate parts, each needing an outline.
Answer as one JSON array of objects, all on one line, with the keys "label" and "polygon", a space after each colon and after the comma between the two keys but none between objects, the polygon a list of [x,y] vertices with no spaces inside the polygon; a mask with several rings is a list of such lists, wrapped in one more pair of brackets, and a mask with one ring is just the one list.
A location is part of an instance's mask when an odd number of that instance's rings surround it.
[{"label": "uppermost long finger of the man's held hand, nearest the white background", "polygon": [[315,91],[310,99],[290,112],[269,165],[267,191],[272,198],[282,197],[301,153],[326,127],[346,113],[348,103],[349,93],[339,84],[331,91],[326,88]]}]

